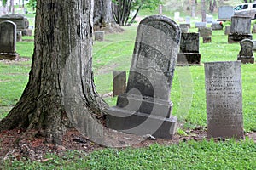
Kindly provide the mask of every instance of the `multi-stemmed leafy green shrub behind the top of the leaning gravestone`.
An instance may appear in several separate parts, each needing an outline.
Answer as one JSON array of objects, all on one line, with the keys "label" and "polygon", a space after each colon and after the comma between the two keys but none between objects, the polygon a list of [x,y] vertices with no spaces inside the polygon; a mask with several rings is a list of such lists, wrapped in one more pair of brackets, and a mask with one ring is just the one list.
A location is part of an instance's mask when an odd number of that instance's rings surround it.
[{"label": "multi-stemmed leafy green shrub behind the top of the leaning gravestone", "polygon": [[140,9],[159,7],[160,0],[113,0],[113,19],[120,26],[130,26]]}]

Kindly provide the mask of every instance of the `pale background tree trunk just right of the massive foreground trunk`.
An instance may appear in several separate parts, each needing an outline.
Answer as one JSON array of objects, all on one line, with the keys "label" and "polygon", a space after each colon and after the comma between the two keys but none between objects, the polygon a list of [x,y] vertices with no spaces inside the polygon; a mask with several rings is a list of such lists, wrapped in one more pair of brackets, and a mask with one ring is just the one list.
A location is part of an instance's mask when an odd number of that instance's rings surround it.
[{"label": "pale background tree trunk just right of the massive foreground trunk", "polygon": [[112,0],[94,1],[94,30],[104,30],[107,32],[123,31],[113,20]]}]

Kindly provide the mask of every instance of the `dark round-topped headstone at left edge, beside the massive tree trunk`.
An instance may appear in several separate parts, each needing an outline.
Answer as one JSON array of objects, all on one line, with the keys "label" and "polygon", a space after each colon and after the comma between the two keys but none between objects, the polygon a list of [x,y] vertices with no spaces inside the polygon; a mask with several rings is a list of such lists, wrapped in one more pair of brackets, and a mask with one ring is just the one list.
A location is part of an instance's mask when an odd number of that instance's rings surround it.
[{"label": "dark round-topped headstone at left edge, beside the massive tree trunk", "polygon": [[16,25],[12,21],[0,22],[0,59],[16,59]]}]

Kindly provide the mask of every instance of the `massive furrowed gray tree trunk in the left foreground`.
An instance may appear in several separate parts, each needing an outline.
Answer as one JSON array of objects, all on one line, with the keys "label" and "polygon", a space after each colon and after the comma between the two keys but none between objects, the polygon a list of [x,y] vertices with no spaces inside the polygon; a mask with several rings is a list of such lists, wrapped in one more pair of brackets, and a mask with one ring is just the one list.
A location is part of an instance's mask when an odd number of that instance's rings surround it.
[{"label": "massive furrowed gray tree trunk in the left foreground", "polygon": [[90,121],[107,105],[93,82],[92,6],[90,0],[37,1],[29,82],[0,130],[38,129],[49,143],[61,144],[70,120],[93,133]]}]

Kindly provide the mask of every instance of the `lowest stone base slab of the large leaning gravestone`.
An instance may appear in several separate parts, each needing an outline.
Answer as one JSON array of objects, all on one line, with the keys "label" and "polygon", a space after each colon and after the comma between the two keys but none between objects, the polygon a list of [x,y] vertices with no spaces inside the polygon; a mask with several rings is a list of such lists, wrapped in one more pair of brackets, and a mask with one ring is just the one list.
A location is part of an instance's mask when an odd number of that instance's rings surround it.
[{"label": "lowest stone base slab of the large leaning gravestone", "polygon": [[[144,123],[144,124],[143,124]],[[177,117],[170,118],[127,111],[117,106],[108,109],[107,127],[137,135],[152,134],[155,138],[172,139]]]}]

